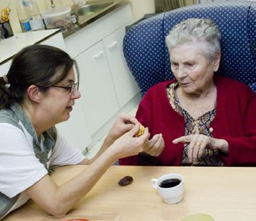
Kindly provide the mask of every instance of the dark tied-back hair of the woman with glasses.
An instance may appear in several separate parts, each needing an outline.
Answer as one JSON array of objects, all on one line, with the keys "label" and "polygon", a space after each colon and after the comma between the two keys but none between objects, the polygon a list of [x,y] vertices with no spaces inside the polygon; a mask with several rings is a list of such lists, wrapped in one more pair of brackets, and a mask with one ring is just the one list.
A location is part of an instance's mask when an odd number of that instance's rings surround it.
[{"label": "dark tied-back hair of the woman with glasses", "polygon": [[[0,108],[11,103],[21,103],[30,85],[54,85],[62,81],[72,66],[74,59],[68,53],[48,45],[31,45],[19,51],[6,75],[0,77]],[[47,91],[48,87],[40,87]]]}]

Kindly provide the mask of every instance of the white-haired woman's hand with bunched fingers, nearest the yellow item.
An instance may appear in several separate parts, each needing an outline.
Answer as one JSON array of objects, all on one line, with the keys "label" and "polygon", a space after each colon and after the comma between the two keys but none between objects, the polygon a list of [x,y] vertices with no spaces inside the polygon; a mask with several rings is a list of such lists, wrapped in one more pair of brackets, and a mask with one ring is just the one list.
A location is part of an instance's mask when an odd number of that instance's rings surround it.
[{"label": "white-haired woman's hand with bunched fingers, nearest the yellow item", "polygon": [[144,152],[150,156],[159,156],[164,150],[164,138],[162,134],[155,134],[144,148]]}]

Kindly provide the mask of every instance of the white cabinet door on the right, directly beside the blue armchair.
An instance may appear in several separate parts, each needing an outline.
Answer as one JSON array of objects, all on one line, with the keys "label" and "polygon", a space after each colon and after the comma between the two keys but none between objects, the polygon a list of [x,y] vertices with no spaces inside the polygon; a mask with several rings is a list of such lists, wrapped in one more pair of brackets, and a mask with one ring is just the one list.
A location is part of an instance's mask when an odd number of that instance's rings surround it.
[{"label": "white cabinet door on the right, directly beside the blue armchair", "polygon": [[123,107],[125,103],[139,93],[137,82],[129,71],[125,57],[123,56],[124,36],[125,26],[117,29],[117,31],[103,39],[120,107]]}]

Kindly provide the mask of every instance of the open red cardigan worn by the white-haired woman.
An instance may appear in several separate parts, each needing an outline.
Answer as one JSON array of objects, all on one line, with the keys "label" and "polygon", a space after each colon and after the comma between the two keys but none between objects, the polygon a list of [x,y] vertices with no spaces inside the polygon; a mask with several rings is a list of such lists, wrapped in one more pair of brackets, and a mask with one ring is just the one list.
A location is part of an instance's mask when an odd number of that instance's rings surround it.
[{"label": "open red cardigan worn by the white-haired woman", "polygon": [[[184,136],[184,117],[178,114],[168,100],[164,81],[151,87],[139,104],[136,118],[149,128],[151,137],[163,134],[166,144],[160,156],[143,154],[119,160],[121,165],[180,166],[183,144],[172,140]],[[211,127],[214,138],[229,143],[229,154],[221,154],[226,166],[256,166],[256,94],[233,79],[215,76],[217,88],[216,117]]]}]

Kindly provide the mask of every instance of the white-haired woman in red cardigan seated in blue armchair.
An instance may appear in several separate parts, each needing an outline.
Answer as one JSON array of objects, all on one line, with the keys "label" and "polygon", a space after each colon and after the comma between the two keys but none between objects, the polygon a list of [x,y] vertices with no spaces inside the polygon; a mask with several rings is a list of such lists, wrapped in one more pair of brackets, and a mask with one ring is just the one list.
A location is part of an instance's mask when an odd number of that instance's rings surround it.
[{"label": "white-haired woman in red cardigan seated in blue armchair", "polygon": [[144,152],[119,163],[255,165],[256,95],[247,85],[214,74],[220,64],[216,24],[182,21],[166,43],[175,79],[151,87],[136,116],[153,138]]}]

